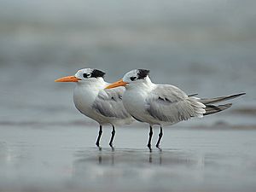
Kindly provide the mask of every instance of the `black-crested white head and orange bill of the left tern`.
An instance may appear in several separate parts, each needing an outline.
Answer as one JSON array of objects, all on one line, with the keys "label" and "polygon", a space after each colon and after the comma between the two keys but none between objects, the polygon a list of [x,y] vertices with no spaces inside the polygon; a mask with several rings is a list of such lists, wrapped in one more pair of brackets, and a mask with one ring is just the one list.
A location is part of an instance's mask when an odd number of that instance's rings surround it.
[{"label": "black-crested white head and orange bill of the left tern", "polygon": [[56,79],[55,82],[93,82],[104,78],[105,73],[98,69],[83,68],[80,69],[75,75],[67,76],[61,79]]}]

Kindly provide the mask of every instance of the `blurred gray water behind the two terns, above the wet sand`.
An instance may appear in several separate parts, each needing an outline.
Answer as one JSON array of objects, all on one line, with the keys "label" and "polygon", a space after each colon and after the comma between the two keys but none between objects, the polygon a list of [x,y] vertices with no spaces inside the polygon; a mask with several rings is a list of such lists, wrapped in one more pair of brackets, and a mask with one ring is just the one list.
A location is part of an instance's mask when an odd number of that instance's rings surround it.
[{"label": "blurred gray water behind the two terns, above the wet sand", "polygon": [[202,97],[245,91],[236,107],[255,108],[255,5],[2,0],[0,123],[81,119],[74,84],[54,79],[83,67],[102,69],[109,82],[148,68],[155,83]]}]

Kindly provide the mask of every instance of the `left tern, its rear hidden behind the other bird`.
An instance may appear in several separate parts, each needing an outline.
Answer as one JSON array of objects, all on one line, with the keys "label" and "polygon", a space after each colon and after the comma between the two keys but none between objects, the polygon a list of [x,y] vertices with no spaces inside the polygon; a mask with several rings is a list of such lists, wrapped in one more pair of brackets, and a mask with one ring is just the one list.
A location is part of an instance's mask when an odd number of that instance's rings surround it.
[{"label": "left tern, its rear hidden behind the other bird", "polygon": [[80,69],[74,76],[56,79],[55,82],[75,82],[77,86],[73,91],[73,102],[80,113],[90,119],[96,120],[100,125],[96,146],[100,147],[102,125],[112,125],[109,145],[113,148],[115,125],[131,124],[134,120],[127,113],[122,102],[125,88],[104,90],[108,83],[104,81],[105,73],[98,69]]}]

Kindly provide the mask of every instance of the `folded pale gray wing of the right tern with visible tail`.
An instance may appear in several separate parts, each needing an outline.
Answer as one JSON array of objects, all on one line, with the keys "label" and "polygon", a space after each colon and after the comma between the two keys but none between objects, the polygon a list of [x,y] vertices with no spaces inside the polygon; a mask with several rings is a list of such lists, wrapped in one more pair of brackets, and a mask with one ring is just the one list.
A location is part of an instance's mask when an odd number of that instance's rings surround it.
[{"label": "folded pale gray wing of the right tern with visible tail", "polygon": [[146,99],[147,111],[160,121],[177,123],[191,117],[202,117],[205,105],[172,85],[157,85]]}]

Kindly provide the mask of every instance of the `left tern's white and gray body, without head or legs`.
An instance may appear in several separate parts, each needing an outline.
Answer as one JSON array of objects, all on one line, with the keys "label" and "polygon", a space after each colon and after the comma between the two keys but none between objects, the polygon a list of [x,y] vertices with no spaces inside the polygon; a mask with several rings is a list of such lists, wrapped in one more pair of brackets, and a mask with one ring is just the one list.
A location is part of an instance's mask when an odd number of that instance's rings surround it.
[{"label": "left tern's white and gray body, without head or legs", "polygon": [[75,107],[101,125],[130,124],[133,119],[119,98],[125,88],[104,90],[107,85],[102,78],[79,81],[73,92]]}]

